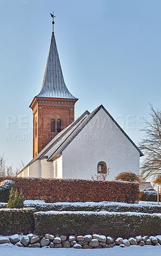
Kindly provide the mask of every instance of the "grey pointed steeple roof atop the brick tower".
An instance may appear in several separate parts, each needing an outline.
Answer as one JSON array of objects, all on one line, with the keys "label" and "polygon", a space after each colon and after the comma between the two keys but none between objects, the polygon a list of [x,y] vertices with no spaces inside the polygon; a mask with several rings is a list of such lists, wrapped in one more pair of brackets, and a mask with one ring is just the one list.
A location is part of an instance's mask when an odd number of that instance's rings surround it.
[{"label": "grey pointed steeple roof atop the brick tower", "polygon": [[77,99],[67,90],[66,84],[64,83],[54,33],[52,33],[43,85],[36,97]]}]

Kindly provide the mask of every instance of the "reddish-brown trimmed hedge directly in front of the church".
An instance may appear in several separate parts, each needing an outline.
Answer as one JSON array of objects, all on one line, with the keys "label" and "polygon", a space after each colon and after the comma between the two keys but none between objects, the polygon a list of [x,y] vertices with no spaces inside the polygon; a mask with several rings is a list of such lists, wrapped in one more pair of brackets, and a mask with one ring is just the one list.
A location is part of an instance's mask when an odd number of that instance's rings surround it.
[{"label": "reddish-brown trimmed hedge directly in front of the church", "polygon": [[[5,177],[0,177],[0,181]],[[8,177],[15,182],[14,189],[22,189],[25,200],[45,202],[125,202],[139,200],[139,184],[133,182],[41,179]]]}]

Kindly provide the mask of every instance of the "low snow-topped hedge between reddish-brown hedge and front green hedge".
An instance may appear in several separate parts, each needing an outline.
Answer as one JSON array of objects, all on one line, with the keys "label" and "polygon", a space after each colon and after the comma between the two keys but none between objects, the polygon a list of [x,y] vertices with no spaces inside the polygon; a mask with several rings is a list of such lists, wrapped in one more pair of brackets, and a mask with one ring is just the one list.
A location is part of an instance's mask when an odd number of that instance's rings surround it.
[{"label": "low snow-topped hedge between reddish-brown hedge and front green hedge", "polygon": [[[1,205],[0,205],[1,207]],[[161,213],[161,205],[153,204],[123,204],[116,202],[85,202],[85,203],[55,203],[25,202],[25,207],[34,207],[37,211],[109,211],[109,212],[144,212]]]}]

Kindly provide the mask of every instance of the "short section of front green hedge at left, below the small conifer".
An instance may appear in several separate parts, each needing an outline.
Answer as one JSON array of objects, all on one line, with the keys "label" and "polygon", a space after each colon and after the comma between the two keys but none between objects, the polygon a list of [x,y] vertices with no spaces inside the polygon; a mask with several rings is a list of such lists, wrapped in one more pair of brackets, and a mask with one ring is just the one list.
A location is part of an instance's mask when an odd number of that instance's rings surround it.
[{"label": "short section of front green hedge at left, below the small conifer", "polygon": [[34,230],[34,212],[34,208],[0,209],[0,234],[10,236],[21,232],[31,233]]}]

